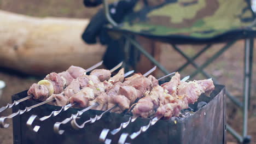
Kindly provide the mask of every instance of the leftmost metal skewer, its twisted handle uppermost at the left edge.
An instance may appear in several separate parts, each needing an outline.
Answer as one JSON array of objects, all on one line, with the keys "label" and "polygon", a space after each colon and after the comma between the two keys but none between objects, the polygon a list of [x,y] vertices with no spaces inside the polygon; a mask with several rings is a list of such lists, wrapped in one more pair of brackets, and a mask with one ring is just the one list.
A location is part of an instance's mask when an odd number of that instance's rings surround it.
[{"label": "leftmost metal skewer, its twisted handle uppermost at the left edge", "polygon": [[[103,63],[103,61],[101,61],[101,62],[99,62],[99,63],[93,65],[92,67],[86,69],[85,74],[86,74],[88,71],[91,71],[91,70],[93,70],[93,69],[99,67],[100,65],[102,65],[102,63]],[[0,113],[3,112],[3,111],[6,110],[6,109],[10,109],[11,107],[18,105],[18,104],[21,103],[22,101],[28,100],[28,99],[30,99],[30,98],[33,98],[33,95],[28,95],[27,97],[22,98],[22,99],[17,100],[17,101],[14,100],[14,102],[13,102],[12,104],[7,104],[6,106],[1,107],[1,108],[0,108]]]}]

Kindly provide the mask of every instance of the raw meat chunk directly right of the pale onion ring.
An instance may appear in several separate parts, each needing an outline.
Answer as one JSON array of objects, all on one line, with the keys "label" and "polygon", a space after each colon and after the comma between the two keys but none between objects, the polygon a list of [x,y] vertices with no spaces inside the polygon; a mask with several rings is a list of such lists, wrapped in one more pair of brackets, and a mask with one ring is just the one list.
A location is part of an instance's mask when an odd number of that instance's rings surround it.
[{"label": "raw meat chunk directly right of the pale onion ring", "polygon": [[57,73],[50,73],[49,75],[46,75],[44,80],[49,80],[53,84],[54,94],[63,92],[65,81]]}]

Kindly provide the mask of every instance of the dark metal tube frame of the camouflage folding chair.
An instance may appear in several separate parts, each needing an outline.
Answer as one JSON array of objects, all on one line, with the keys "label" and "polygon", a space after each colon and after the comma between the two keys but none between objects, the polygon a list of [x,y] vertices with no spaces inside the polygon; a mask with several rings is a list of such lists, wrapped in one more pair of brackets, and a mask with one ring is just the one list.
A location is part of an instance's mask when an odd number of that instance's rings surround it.
[{"label": "dark metal tube frame of the camouflage folding chair", "polygon": [[[113,27],[117,27],[118,24],[112,19],[112,17],[109,14],[107,0],[103,1],[103,5],[104,5],[104,13],[105,13],[106,19],[108,20],[110,25],[112,25]],[[126,52],[126,54],[127,54],[127,51],[129,51],[130,45],[132,44],[133,46],[136,47],[136,49],[139,52],[143,53],[144,56],[146,56],[152,63],[154,63],[164,74],[169,74],[168,70],[166,70],[158,61],[156,61],[155,58],[153,56],[151,56],[146,50],[144,50],[144,48],[136,40],[132,39],[132,37],[130,37],[130,35],[128,35],[128,34],[123,34],[123,35],[126,39],[126,43],[125,43],[125,47],[124,47],[124,51]],[[210,74],[207,74],[206,71],[203,69],[205,69],[209,64],[211,64],[220,55],[222,55],[223,52],[228,50],[229,47],[231,47],[233,44],[235,44],[235,42],[237,40],[228,42],[222,49],[220,49],[218,52],[214,53],[214,55],[212,57],[210,57],[202,65],[198,65],[194,61],[202,53],[204,53],[206,50],[208,50],[211,47],[211,44],[206,45],[206,47],[204,47],[201,51],[196,53],[196,55],[191,58],[189,56],[187,56],[181,49],[179,49],[179,47],[177,47],[177,45],[171,44],[173,46],[174,50],[176,50],[185,59],[187,59],[187,62],[184,65],[182,65],[179,69],[177,69],[177,71],[181,71],[185,67],[187,67],[189,64],[191,64],[191,65],[193,65],[194,68],[196,68],[196,70],[194,71],[194,73],[192,73],[190,75],[190,77],[194,77],[195,75],[201,73],[203,76],[207,77],[208,79],[212,78],[212,76]],[[242,135],[240,135],[239,133],[237,133],[237,131],[232,129],[229,124],[226,124],[226,128],[225,128],[240,143],[250,143],[251,142],[251,136],[247,135],[247,131],[248,131],[247,130],[247,128],[248,128],[247,122],[248,122],[249,101],[250,101],[250,97],[251,97],[251,83],[252,83],[252,70],[253,70],[253,43],[254,43],[253,38],[245,39],[243,102],[241,102],[236,97],[232,96],[228,91],[226,91],[226,95],[228,96],[228,98],[230,98],[230,100],[234,104],[236,104],[240,109],[243,110]],[[127,57],[125,59],[127,59]],[[127,67],[127,65],[126,65],[126,67]],[[212,80],[214,81],[214,83],[218,84],[218,81],[216,79],[212,78]]]}]

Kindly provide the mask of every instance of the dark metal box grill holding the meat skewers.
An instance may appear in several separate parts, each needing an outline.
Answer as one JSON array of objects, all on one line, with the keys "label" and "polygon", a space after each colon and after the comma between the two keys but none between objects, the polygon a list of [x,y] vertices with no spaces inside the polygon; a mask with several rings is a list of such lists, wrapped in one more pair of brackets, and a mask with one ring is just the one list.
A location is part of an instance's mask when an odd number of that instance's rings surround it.
[{"label": "dark metal box grill holding the meat skewers", "polygon": [[[13,95],[12,100],[19,100],[27,96],[27,91]],[[205,101],[207,105],[197,110],[197,104]],[[13,112],[25,109],[26,106],[38,104],[34,100],[26,100],[21,104],[13,107]],[[160,120],[150,127],[145,133],[139,135],[136,139],[131,140],[127,137],[127,143],[226,143],[226,107],[225,107],[225,87],[215,85],[214,91],[210,97],[201,95],[198,101],[190,105],[191,109],[196,112],[186,118],[176,120]],[[98,137],[103,128],[115,129],[120,123],[126,122],[130,115],[124,113],[106,113],[94,124],[86,125],[84,129],[74,130],[71,124],[61,125],[65,130],[63,135],[54,133],[53,125],[55,122],[61,122],[63,119],[70,117],[81,109],[68,109],[61,112],[60,115],[49,118],[46,121],[35,121],[33,124],[41,125],[38,133],[27,127],[26,122],[31,115],[43,117],[49,115],[54,110],[60,110],[61,107],[54,105],[42,105],[13,118],[13,135],[14,143],[102,143]],[[82,122],[95,115],[100,115],[102,111],[86,111],[80,119]],[[141,126],[147,125],[149,118],[138,118],[131,123],[122,132],[133,133],[140,129]],[[34,126],[33,125],[33,126]],[[107,138],[111,143],[118,143],[121,133],[117,135],[108,134]],[[110,142],[110,141],[108,141]]]}]

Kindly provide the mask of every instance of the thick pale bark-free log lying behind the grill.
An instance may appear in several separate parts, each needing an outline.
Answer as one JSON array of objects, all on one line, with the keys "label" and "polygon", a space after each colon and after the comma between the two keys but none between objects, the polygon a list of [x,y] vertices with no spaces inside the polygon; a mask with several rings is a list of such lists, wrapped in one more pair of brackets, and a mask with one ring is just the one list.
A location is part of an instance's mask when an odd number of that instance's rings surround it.
[{"label": "thick pale bark-free log lying behind the grill", "polygon": [[1,10],[0,17],[0,67],[45,75],[70,65],[88,68],[106,50],[82,40],[88,19],[36,18]]}]

